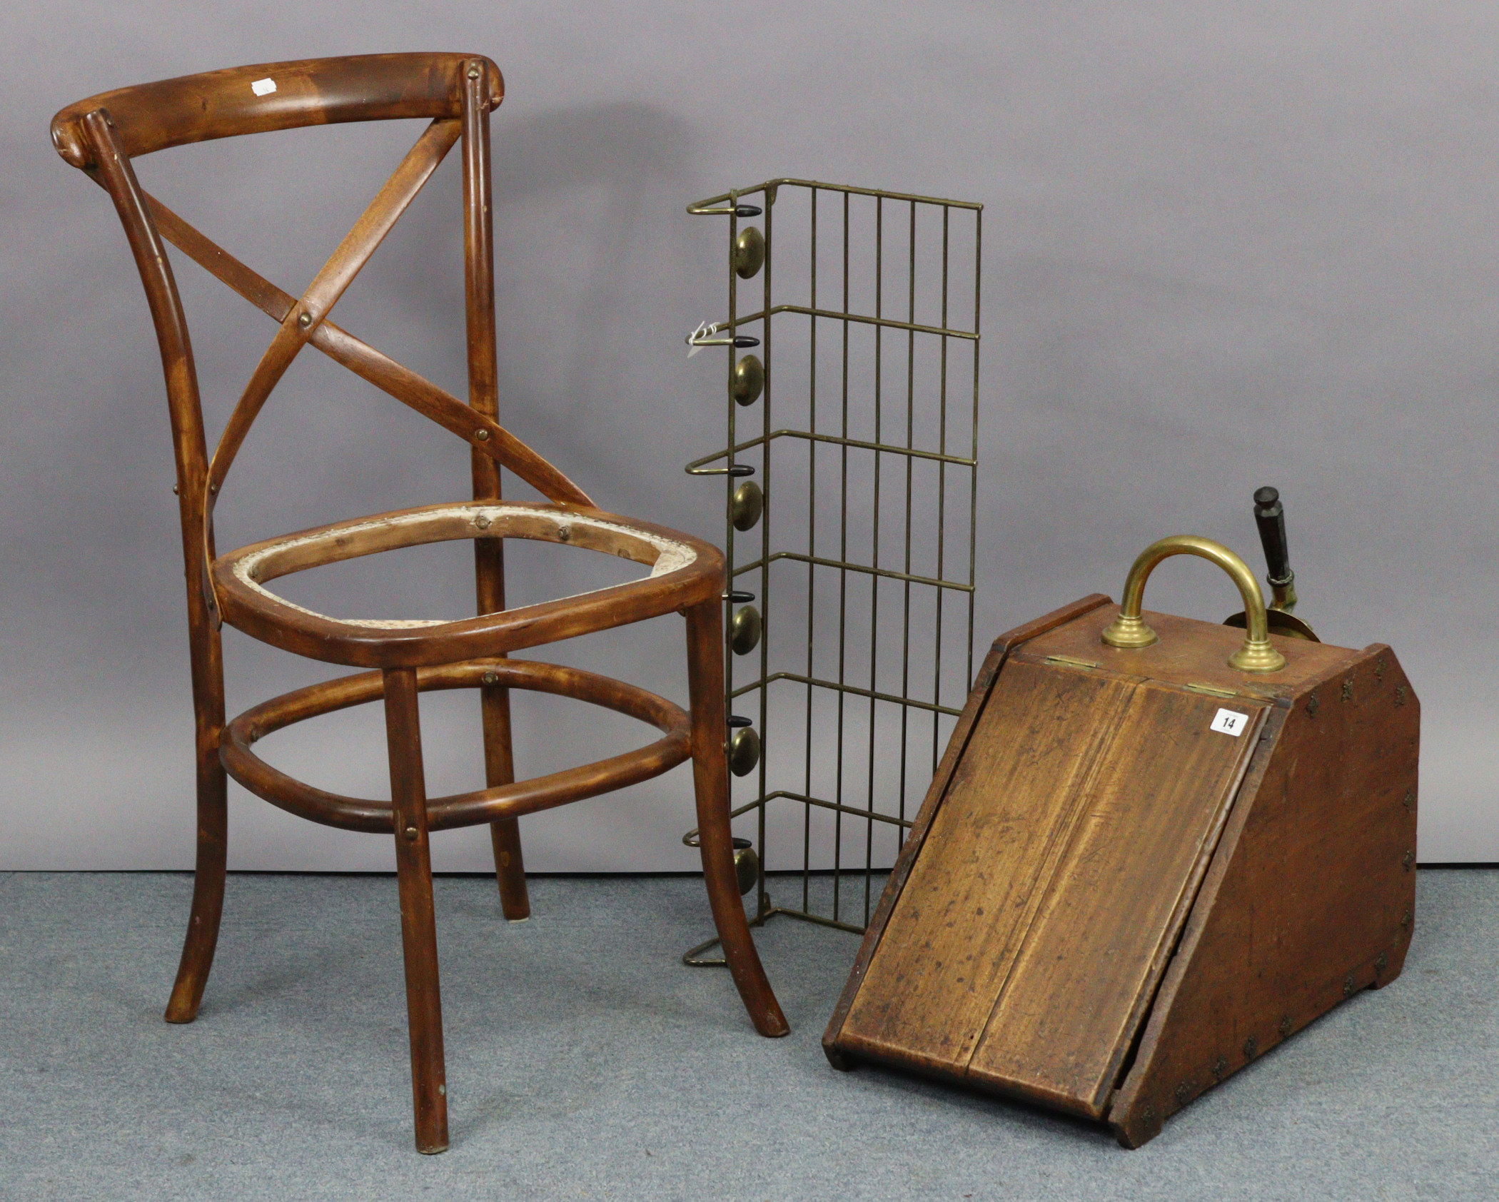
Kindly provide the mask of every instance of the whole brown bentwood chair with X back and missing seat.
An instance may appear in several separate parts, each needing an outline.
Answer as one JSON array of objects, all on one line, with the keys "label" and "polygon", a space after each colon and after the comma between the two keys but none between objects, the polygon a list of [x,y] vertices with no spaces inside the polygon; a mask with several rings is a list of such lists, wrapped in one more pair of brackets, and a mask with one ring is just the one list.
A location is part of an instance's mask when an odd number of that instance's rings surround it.
[{"label": "whole brown bentwood chair with X back and missing seat", "polygon": [[[273,88],[271,88],[273,85]],[[507,917],[529,914],[517,820],[592,797],[693,760],[703,874],[733,979],[755,1028],[785,1034],[735,878],[723,701],[723,556],[688,535],[600,511],[547,460],[498,424],[489,114],[504,97],[483,55],[378,54],[234,67],[118,88],[52,120],[58,153],[114,199],[150,303],[166,375],[196,712],[198,862],[192,917],[168,1022],[192,1022],[213,962],[223,908],[226,775],[304,818],[394,836],[411,1025],[417,1148],[448,1145],[436,925],[429,835],[489,823]],[[189,142],[337,121],[427,118],[430,124],[301,297],[280,291],[193,229],[135,178],[130,160]],[[328,319],[349,282],[406,210],[444,154],[462,142],[469,399],[463,403]],[[187,322],[163,240],[261,309],[279,328],[250,376],[213,456],[207,451]],[[474,499],[340,522],[217,555],[213,511],[235,453],[295,355],[312,345],[355,375],[451,430],[472,448]],[[501,466],[550,504],[502,501]],[[283,601],[265,583],[288,573],[396,547],[472,538],[478,616],[456,622],[340,620]],[[504,540],[531,538],[609,552],[652,567],[613,588],[505,608]],[[588,671],[508,658],[510,652],[670,611],[687,617],[691,712]],[[375,671],[276,697],[225,721],[220,623],[273,646]],[[429,799],[417,698],[478,688],[487,787]],[[646,748],[585,767],[516,781],[510,689],[591,701],[651,722]],[[252,749],[262,736],[321,713],[384,700],[391,800],[327,793],[286,776]]]}]

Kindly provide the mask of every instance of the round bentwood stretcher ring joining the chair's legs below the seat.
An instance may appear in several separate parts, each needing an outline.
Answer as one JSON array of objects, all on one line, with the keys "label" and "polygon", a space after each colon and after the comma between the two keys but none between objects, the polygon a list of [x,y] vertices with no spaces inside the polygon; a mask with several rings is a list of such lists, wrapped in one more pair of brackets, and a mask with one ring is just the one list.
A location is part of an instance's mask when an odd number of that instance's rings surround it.
[{"label": "round bentwood stretcher ring joining the chair's legs below the seat", "polygon": [[[429,797],[429,830],[451,830],[498,818],[519,818],[522,814],[597,797],[615,788],[649,781],[691,758],[691,718],[687,710],[622,680],[528,659],[447,664],[417,671],[418,692],[493,685],[589,701],[649,722],[663,733],[663,737],[639,751],[531,781],[516,781],[451,797]],[[384,673],[361,671],[273,697],[229,722],[219,746],[219,758],[228,773],[250,793],[291,814],[343,830],[390,833],[396,829],[390,802],[328,793],[288,776],[250,751],[256,740],[273,731],[307,718],[378,701],[384,695]]]}]

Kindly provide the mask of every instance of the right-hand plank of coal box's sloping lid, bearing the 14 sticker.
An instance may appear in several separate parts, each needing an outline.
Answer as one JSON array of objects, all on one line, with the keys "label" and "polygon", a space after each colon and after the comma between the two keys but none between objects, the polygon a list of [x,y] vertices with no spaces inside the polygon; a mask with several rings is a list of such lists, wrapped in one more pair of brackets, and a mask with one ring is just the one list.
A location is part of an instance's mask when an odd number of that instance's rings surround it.
[{"label": "right-hand plank of coal box's sloping lid, bearing the 14 sticker", "polygon": [[[1211,730],[1225,704],[1250,715],[1238,736]],[[1130,689],[968,1064],[971,1081],[1102,1117],[1264,712],[1154,683]]]}]

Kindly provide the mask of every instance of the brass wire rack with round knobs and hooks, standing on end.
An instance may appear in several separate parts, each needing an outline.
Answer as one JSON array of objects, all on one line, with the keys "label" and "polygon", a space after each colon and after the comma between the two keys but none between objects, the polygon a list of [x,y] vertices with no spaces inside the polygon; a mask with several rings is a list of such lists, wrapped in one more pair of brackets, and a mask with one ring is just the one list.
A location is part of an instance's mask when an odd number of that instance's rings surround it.
[{"label": "brass wire rack with round knobs and hooks, standing on end", "polygon": [[[755,815],[739,851],[752,925],[865,929],[970,689],[982,210],[790,178],[687,210],[727,217],[729,316],[687,339],[729,351],[727,445],[687,472],[726,484],[724,700],[730,767],[752,785],[733,809]],[[773,902],[767,869],[799,875],[800,896]],[[702,955],[717,943],[684,964],[724,964]]]}]

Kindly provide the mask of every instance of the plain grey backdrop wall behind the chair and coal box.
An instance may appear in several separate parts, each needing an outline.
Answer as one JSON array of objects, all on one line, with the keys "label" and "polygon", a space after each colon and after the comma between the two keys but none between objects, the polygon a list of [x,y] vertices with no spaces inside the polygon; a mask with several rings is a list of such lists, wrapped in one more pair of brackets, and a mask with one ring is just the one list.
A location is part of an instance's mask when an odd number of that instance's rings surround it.
[{"label": "plain grey backdrop wall behind the chair and coal box", "polygon": [[[1426,3],[81,3],[13,12],[3,88],[4,868],[192,863],[190,706],[166,406],[106,198],[52,153],[63,103],[126,82],[327,54],[492,55],[502,421],[607,508],[717,540],[682,475],[721,439],[721,231],[687,201],[772,175],[980,199],[979,638],[1117,595],[1163,534],[1258,562],[1247,499],[1282,487],[1303,613],[1388,641],[1421,695],[1424,862],[1499,860],[1499,12]],[[435,30],[442,30],[441,34]],[[415,136],[345,126],[168,151],[142,181],[300,289]],[[462,391],[457,163],[339,306]],[[271,330],[178,264],[210,421]],[[451,436],[298,360],[220,505],[220,544],[453,499]],[[517,602],[603,577],[522,549]],[[346,565],[294,594],[466,611],[466,547]],[[1216,617],[1172,562],[1151,604]],[[679,623],[559,649],[684,698]],[[229,634],[231,712],[318,679]],[[529,700],[529,698],[528,698]],[[432,788],[478,775],[471,697],[424,710]],[[522,706],[525,772],[592,758],[567,704]],[[609,737],[628,745],[628,724]],[[343,791],[384,785],[379,713],[267,743]],[[234,868],[390,868],[387,841],[235,790]],[[691,868],[678,770],[526,823],[537,869]],[[483,869],[483,830],[435,842]]]}]

